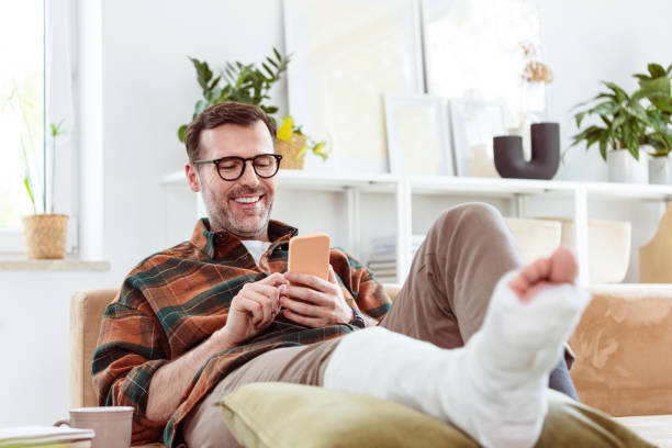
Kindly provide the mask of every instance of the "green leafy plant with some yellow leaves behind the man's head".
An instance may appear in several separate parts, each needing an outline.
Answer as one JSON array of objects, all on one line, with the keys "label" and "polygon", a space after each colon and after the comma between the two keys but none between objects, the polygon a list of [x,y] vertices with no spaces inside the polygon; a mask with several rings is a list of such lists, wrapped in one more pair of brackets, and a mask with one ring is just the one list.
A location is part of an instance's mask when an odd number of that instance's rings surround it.
[{"label": "green leafy plant with some yellow leaves behind the man's head", "polygon": [[[259,65],[243,64],[239,61],[225,63],[220,75],[216,77],[205,60],[199,60],[194,57],[189,57],[189,59],[193,64],[197,71],[197,80],[203,92],[203,98],[198,100],[194,104],[191,121],[206,108],[224,101],[256,104],[269,115],[278,112],[276,105],[268,103],[268,100],[270,100],[268,93],[273,83],[279,81],[281,75],[287,70],[291,60],[291,55],[283,56],[277,48],[273,48],[272,55],[266,57]],[[305,135],[302,132],[302,126],[295,126],[293,119],[291,119],[291,116],[289,116],[289,119],[291,120],[291,132],[289,137],[283,138],[279,136],[280,139],[288,143],[292,132]],[[287,126],[285,123],[290,122],[283,119],[282,126]],[[189,124],[183,124],[178,128],[178,138],[180,142],[184,142],[184,132],[187,127],[189,127]],[[284,135],[284,133],[282,135]],[[318,155],[323,159],[328,157],[326,142],[315,142],[307,135],[306,138],[309,145],[299,153],[298,157],[305,154],[309,147],[313,154]]]}]

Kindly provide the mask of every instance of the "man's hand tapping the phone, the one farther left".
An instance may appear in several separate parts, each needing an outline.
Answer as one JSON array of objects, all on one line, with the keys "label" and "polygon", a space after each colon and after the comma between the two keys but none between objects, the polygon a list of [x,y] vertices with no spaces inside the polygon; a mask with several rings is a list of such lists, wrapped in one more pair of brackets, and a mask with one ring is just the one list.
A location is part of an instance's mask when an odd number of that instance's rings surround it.
[{"label": "man's hand tapping the phone, the one farther left", "polygon": [[264,332],[280,312],[280,294],[288,281],[276,272],[264,280],[245,283],[231,302],[226,325],[212,337],[235,347]]}]

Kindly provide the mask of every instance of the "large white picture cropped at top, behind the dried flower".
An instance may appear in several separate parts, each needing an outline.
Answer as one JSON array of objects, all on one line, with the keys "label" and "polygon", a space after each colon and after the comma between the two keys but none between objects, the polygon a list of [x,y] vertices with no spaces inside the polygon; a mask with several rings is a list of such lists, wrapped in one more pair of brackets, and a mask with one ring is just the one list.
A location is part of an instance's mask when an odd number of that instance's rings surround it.
[{"label": "large white picture cropped at top, behind the dried flower", "polygon": [[544,60],[534,1],[422,0],[421,10],[427,93],[502,103],[512,128],[548,115],[546,85],[522,78],[529,58]]}]

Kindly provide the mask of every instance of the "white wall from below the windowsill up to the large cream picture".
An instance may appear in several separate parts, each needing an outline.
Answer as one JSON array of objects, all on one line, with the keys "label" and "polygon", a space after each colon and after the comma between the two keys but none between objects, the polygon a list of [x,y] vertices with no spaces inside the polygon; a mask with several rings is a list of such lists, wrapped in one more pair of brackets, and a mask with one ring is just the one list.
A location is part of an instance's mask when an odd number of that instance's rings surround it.
[{"label": "white wall from below the windowsill up to the large cream picture", "polygon": [[[177,128],[191,119],[200,94],[187,56],[215,64],[255,61],[273,46],[283,49],[279,0],[109,0],[101,12],[99,201],[102,251],[112,269],[0,271],[0,382],[5,403],[0,427],[48,425],[66,415],[70,295],[80,289],[119,287],[136,262],[163,248],[159,179],[183,166]],[[272,92],[282,108],[285,91],[282,81]]]}]

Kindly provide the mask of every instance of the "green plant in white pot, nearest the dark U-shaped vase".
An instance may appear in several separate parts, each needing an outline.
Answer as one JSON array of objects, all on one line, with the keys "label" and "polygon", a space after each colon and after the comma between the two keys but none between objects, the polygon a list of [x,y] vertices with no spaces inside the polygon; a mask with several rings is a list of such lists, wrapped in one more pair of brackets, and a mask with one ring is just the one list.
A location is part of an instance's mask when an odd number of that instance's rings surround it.
[{"label": "green plant in white pot, nearest the dark U-shaped vase", "polygon": [[572,146],[585,142],[587,150],[598,144],[608,165],[609,181],[647,183],[647,154],[639,148],[650,125],[649,114],[639,96],[629,96],[614,82],[603,83],[608,91],[578,104],[576,108],[590,105],[574,115],[580,130],[585,116],[595,115],[601,122],[574,135]]}]

